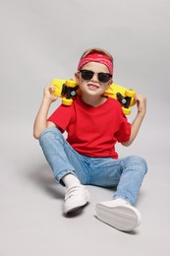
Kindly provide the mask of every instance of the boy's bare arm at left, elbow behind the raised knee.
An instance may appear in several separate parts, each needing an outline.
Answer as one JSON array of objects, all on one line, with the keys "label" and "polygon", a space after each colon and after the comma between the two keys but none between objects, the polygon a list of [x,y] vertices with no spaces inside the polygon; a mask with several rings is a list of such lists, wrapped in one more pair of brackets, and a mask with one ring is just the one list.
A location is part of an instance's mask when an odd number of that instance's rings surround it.
[{"label": "boy's bare arm at left, elbow behind the raised knee", "polygon": [[54,123],[47,121],[49,107],[51,103],[57,99],[57,96],[51,95],[51,91],[53,90],[54,89],[51,86],[47,86],[44,89],[43,99],[33,125],[33,137],[35,139],[39,139],[39,135],[45,128],[55,126]]}]

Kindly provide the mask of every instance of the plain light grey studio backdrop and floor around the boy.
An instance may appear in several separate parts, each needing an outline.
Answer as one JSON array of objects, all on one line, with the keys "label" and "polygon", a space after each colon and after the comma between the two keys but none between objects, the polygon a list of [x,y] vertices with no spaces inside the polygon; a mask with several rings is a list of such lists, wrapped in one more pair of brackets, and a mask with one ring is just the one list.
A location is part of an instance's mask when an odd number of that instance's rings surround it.
[{"label": "plain light grey studio backdrop and floor around the boy", "polygon": [[[169,8],[168,0],[0,0],[1,256],[169,255]],[[83,213],[63,217],[65,189],[32,138],[43,88],[74,78],[93,46],[113,54],[116,84],[147,96],[139,137],[118,146],[120,157],[142,156],[149,168],[137,205],[142,225],[131,234],[95,219],[108,189],[88,186]]]}]

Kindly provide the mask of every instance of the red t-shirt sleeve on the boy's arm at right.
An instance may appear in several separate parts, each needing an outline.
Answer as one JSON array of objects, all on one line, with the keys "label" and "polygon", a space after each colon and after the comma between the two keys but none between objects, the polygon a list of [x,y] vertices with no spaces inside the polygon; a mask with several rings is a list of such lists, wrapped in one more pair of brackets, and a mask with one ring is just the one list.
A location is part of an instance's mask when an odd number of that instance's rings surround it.
[{"label": "red t-shirt sleeve on the boy's arm at right", "polygon": [[116,133],[117,141],[120,143],[128,142],[131,136],[131,123],[128,122],[126,116],[122,116],[119,131]]}]

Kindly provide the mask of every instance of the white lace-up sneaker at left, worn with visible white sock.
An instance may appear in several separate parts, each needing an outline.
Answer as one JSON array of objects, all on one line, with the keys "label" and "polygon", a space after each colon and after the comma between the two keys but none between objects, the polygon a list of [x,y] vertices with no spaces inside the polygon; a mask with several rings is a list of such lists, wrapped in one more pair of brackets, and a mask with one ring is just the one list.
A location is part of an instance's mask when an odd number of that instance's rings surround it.
[{"label": "white lace-up sneaker at left, worn with visible white sock", "polygon": [[84,185],[74,185],[66,191],[64,213],[68,214],[85,206],[89,202],[90,196]]}]

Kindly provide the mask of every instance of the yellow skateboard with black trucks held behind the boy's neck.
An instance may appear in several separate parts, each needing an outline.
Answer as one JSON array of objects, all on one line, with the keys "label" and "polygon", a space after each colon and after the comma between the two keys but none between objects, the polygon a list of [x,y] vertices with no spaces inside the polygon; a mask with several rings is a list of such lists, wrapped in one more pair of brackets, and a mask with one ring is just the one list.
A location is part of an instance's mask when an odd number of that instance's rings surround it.
[{"label": "yellow skateboard with black trucks held behind the boy's neck", "polygon": [[[79,86],[75,80],[53,79],[51,85],[55,88],[55,91],[52,94],[54,96],[62,97],[62,103],[64,105],[71,105],[76,96],[81,96],[81,90],[79,90]],[[104,96],[110,96],[117,99],[122,105],[124,114],[128,115],[131,113],[130,106],[135,104],[136,92],[112,84],[109,89],[104,92]]]}]

